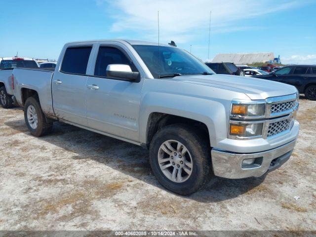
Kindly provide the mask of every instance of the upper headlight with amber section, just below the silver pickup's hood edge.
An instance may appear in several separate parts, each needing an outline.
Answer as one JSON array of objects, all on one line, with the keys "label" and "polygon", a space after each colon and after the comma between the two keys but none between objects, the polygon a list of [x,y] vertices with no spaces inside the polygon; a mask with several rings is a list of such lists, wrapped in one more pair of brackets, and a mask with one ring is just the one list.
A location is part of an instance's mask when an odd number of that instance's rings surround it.
[{"label": "upper headlight with amber section, just below the silver pickup's hood edge", "polygon": [[231,114],[233,116],[255,117],[264,116],[266,104],[233,104]]}]

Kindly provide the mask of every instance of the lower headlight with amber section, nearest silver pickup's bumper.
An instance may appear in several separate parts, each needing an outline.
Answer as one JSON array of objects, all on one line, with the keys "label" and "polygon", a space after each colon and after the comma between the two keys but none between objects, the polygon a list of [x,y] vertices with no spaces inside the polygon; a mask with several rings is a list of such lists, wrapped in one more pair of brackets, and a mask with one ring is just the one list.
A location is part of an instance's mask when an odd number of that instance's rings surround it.
[{"label": "lower headlight with amber section, nearest silver pickup's bumper", "polygon": [[230,124],[230,135],[238,137],[254,137],[262,135],[263,123]]}]

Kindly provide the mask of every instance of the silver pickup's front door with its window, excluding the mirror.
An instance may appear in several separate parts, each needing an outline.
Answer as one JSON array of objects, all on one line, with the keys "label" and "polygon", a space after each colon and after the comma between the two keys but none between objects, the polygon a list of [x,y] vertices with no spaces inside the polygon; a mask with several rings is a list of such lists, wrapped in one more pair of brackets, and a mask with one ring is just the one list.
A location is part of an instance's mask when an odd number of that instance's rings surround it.
[{"label": "silver pickup's front door with its window, excluding the mirror", "polygon": [[144,77],[139,82],[109,78],[109,64],[127,64],[142,73],[133,54],[120,43],[103,43],[95,53],[95,68],[86,82],[87,120],[90,128],[139,141],[139,110]]}]

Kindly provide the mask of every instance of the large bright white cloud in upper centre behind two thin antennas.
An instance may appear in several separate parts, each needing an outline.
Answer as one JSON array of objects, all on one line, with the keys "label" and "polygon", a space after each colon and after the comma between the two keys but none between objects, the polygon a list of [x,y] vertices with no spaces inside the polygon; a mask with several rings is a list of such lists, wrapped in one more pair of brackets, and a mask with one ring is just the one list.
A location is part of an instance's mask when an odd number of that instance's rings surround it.
[{"label": "large bright white cloud in upper centre behind two thin antennas", "polygon": [[[107,9],[115,22],[112,32],[133,31],[139,39],[156,40],[158,10],[160,39],[187,42],[207,38],[209,12],[212,11],[212,34],[254,29],[237,21],[293,8],[298,0],[96,0]],[[113,9],[113,10],[110,10]],[[115,14],[113,12],[116,12]]]}]

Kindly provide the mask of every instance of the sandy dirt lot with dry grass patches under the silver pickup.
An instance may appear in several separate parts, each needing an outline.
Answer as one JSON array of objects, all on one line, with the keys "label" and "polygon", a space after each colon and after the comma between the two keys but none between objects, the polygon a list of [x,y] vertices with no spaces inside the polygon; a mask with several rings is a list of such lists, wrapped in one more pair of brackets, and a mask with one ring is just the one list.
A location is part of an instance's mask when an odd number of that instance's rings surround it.
[{"label": "sandy dirt lot with dry grass patches under the silver pickup", "polygon": [[0,230],[316,230],[315,112],[300,99],[300,136],[278,170],[181,197],[141,147],[58,122],[36,138],[20,109],[0,109]]}]

